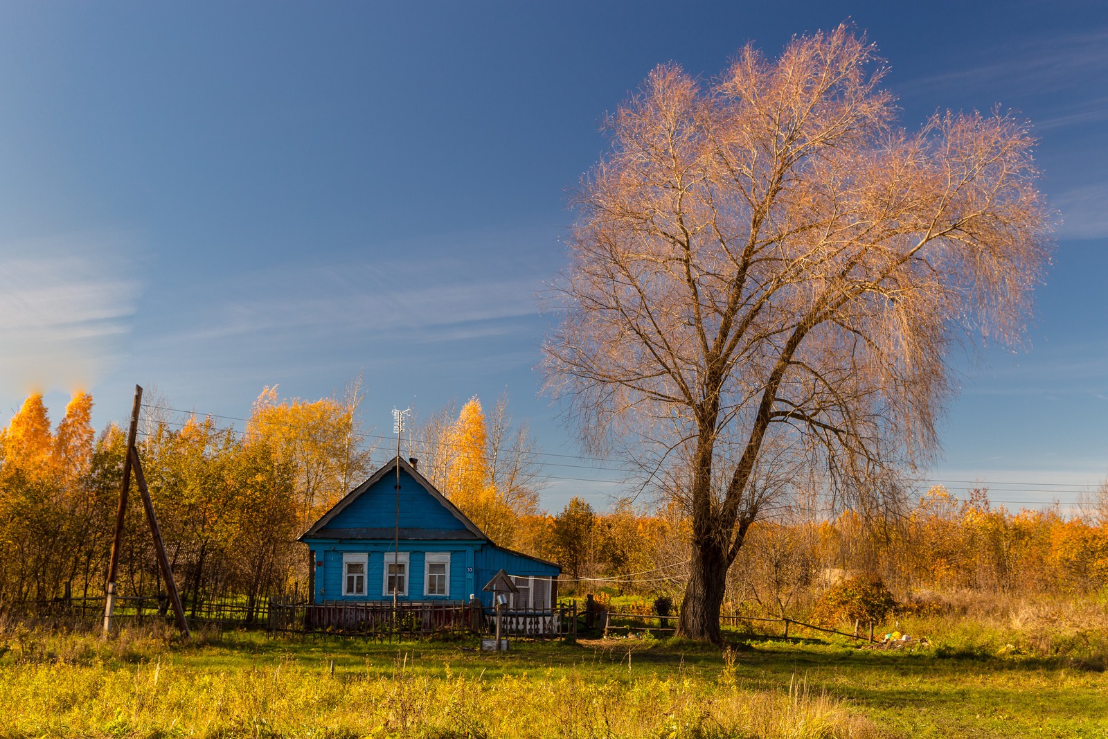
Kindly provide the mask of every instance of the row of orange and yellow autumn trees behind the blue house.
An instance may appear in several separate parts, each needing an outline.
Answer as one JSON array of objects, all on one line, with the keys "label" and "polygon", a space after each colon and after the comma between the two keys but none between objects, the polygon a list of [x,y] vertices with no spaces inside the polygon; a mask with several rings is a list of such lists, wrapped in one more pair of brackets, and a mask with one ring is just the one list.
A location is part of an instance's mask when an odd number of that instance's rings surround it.
[{"label": "row of orange and yellow autumn trees behind the blue house", "polygon": [[[266,388],[242,430],[157,399],[144,407],[140,455],[186,603],[304,593],[307,551],[296,537],[372,472],[360,401],[357,386],[316,401]],[[0,430],[0,608],[66,587],[73,597],[103,593],[126,442],[115,424],[95,433],[91,410],[91,396],[78,393],[52,428],[32,394]],[[491,421],[476,398],[439,411],[417,425],[406,451],[493,541],[558,562],[563,593],[679,597],[690,534],[680,506],[597,512],[575,497],[556,514],[540,510],[541,452],[525,424],[512,424],[504,399]],[[1108,579],[1108,489],[1083,501],[1077,516],[1012,513],[993,507],[986,491],[960,501],[943,487],[881,516],[828,517],[797,504],[747,535],[726,612],[803,613],[856,573],[880,576],[902,597],[1086,593]],[[127,511],[117,582],[124,596],[162,589],[137,504]]]}]

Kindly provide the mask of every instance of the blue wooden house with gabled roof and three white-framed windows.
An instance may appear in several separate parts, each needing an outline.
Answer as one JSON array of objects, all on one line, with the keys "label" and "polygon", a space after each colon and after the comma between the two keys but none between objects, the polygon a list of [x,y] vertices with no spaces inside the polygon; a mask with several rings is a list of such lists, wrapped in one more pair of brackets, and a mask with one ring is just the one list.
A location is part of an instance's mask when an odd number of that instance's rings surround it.
[{"label": "blue wooden house with gabled roof and three white-framed windows", "polygon": [[[550,612],[553,562],[497,546],[416,469],[397,456],[300,536],[311,555],[316,604],[462,604],[503,569],[515,584],[509,607]],[[399,475],[398,475],[399,471]],[[399,484],[398,484],[399,479]]]}]

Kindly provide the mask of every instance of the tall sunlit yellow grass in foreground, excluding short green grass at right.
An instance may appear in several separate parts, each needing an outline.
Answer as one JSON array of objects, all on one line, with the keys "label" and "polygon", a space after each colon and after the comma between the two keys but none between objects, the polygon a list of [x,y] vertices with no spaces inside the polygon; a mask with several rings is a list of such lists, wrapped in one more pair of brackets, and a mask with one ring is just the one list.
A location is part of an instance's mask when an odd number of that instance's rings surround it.
[{"label": "tall sunlit yellow grass in foreground, excluding short green grass at right", "polygon": [[876,736],[804,682],[783,690],[736,679],[733,660],[730,673],[711,674],[684,669],[677,655],[660,673],[633,674],[603,658],[504,670],[510,663],[492,656],[468,657],[458,669],[443,650],[427,660],[397,654],[391,664],[377,654],[331,675],[318,657],[259,658],[218,644],[167,649],[157,634],[107,644],[23,634],[7,644],[0,737],[11,739]]}]

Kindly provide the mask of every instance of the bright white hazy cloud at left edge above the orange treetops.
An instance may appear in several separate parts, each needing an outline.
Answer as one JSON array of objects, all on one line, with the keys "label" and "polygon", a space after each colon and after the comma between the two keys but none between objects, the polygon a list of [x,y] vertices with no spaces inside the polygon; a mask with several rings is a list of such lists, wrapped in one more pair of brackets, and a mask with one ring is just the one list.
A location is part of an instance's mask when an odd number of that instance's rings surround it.
[{"label": "bright white hazy cloud at left edge above the orange treetops", "polygon": [[75,234],[0,244],[0,382],[88,386],[131,330],[140,291],[124,238]]}]

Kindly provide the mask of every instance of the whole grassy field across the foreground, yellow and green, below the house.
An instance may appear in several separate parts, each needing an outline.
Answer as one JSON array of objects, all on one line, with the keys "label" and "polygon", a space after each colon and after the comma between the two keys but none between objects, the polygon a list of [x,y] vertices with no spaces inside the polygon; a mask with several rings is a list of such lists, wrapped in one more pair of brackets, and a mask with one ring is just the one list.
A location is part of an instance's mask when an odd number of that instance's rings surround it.
[{"label": "whole grassy field across the foreground, yellow and green, below the house", "polygon": [[472,646],[20,629],[0,737],[1108,737],[1102,665],[981,645]]}]

